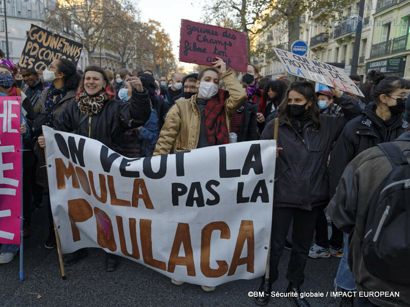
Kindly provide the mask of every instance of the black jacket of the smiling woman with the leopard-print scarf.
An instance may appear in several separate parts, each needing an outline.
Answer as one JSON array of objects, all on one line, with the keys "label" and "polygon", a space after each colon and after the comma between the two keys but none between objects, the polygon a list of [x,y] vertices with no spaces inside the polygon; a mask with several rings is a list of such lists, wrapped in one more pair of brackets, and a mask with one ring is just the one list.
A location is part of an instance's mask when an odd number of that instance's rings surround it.
[{"label": "black jacket of the smiling woman with the leopard-print scarf", "polygon": [[124,132],[144,125],[150,115],[148,91],[144,89],[143,93],[139,93],[133,89],[131,103],[109,100],[98,114],[91,117],[83,115],[77,103],[71,103],[54,120],[54,128],[98,140],[119,152],[121,148],[118,144],[124,139]]}]

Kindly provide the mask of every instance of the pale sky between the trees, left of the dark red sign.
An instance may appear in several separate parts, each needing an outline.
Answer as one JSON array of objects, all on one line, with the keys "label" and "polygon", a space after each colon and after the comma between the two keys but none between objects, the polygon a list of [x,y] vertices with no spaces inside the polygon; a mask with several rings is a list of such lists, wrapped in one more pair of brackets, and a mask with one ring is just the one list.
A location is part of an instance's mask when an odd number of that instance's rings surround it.
[{"label": "pale sky between the trees, left of the dark red sign", "polygon": [[190,65],[178,61],[181,19],[201,21],[201,2],[198,0],[139,0],[138,7],[143,21],[155,19],[168,32],[176,62],[184,66]]}]

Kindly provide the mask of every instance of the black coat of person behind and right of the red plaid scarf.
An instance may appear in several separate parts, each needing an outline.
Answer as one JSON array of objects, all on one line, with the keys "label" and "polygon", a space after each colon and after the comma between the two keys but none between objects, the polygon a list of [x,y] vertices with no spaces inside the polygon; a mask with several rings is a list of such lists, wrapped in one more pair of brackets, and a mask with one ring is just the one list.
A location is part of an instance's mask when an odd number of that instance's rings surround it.
[{"label": "black coat of person behind and right of the red plaid scarf", "polygon": [[258,105],[252,101],[245,102],[236,112],[245,112],[238,133],[238,142],[255,141],[258,139],[257,113]]}]

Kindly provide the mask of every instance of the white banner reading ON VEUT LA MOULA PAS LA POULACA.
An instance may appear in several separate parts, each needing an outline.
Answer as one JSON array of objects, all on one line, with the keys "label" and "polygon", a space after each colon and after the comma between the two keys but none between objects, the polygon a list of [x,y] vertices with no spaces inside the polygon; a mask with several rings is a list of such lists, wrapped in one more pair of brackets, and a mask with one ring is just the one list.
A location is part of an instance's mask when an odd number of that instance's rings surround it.
[{"label": "white banner reading ON VEUT LA MOULA PAS LA POULACA", "polygon": [[129,159],[43,126],[63,253],[101,247],[206,286],[264,274],[276,142]]}]

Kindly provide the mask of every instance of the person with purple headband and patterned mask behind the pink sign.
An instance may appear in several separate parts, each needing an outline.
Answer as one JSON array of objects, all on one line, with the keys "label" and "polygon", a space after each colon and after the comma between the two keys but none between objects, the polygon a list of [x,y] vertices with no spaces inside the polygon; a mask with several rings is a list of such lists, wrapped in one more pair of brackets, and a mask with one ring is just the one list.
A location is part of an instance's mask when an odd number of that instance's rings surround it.
[{"label": "person with purple headband and patterned mask behind the pink sign", "polygon": [[[7,64],[6,64],[7,63]],[[30,130],[30,126],[33,124],[34,111],[30,103],[29,98],[21,91],[18,87],[14,85],[14,79],[12,77],[12,72],[16,69],[13,62],[8,61],[5,64],[0,65],[0,94],[1,96],[20,96],[21,98],[21,116],[22,129]],[[3,109],[3,107],[2,107]],[[20,131],[22,131],[20,129]],[[31,222],[31,181],[34,167],[34,157],[32,153],[33,145],[30,139],[30,133],[22,131],[24,135],[23,146],[26,149],[23,151],[23,236],[29,237],[31,234],[30,222]],[[1,155],[1,153],[0,153]]]}]

